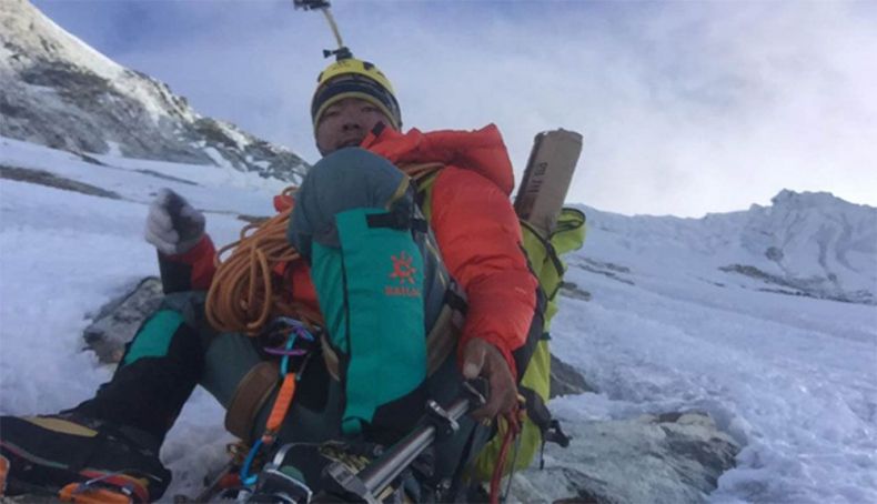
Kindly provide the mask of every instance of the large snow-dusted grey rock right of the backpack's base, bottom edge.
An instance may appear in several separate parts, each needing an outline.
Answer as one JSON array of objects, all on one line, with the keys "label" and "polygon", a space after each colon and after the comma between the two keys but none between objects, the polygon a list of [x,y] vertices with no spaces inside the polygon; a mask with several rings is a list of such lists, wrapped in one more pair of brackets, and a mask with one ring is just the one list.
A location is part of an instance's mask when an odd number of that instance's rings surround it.
[{"label": "large snow-dusted grey rock right of the backpack's base, bottom edge", "polygon": [[734,466],[738,444],[705,413],[564,423],[568,448],[548,445],[545,467],[515,475],[518,502],[704,502]]}]

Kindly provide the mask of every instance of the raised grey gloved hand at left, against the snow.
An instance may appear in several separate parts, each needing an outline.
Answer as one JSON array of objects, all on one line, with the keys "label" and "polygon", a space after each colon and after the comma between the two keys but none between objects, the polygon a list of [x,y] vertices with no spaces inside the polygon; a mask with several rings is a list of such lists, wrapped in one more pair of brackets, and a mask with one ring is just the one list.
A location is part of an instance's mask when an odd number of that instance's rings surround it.
[{"label": "raised grey gloved hand at left, against the snow", "polygon": [[149,206],[145,239],[168,255],[184,254],[204,236],[204,214],[170,189]]}]

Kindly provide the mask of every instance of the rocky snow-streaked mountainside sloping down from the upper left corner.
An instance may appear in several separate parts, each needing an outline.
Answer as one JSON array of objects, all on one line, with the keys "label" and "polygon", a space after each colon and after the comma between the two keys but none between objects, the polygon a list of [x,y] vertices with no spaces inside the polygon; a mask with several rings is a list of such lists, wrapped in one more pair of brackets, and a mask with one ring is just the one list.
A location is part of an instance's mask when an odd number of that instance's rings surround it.
[{"label": "rocky snow-streaked mountainside sloping down from the upper left corner", "polygon": [[0,135],[82,154],[215,164],[300,181],[292,151],[202,117],[149,75],[125,69],[28,0],[0,2]]}]

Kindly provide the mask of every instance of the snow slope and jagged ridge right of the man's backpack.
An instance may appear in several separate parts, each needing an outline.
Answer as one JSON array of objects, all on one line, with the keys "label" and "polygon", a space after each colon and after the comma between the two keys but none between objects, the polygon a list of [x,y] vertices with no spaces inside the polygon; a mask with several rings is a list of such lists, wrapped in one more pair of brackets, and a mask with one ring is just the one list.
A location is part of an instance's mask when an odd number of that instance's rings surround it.
[{"label": "snow slope and jagged ridge right of the man's backpack", "polygon": [[592,299],[565,301],[554,350],[611,401],[555,411],[709,412],[745,445],[715,501],[877,502],[877,209],[784,191],[704,219],[585,211],[566,280]]}]

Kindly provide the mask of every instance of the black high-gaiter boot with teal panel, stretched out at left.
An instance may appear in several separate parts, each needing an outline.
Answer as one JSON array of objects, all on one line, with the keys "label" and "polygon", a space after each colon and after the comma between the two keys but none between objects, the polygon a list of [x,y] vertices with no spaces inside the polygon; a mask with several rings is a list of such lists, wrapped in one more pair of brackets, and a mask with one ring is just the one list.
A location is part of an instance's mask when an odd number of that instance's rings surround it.
[{"label": "black high-gaiter boot with teal panel, stretched out at left", "polygon": [[121,492],[129,497],[122,502],[160,498],[171,473],[159,448],[203,370],[210,334],[198,329],[206,326],[199,322],[202,299],[167,295],[94,397],[57,415],[0,417],[7,493],[73,502],[102,502],[84,498],[89,493]]}]

